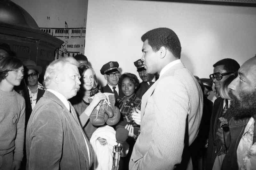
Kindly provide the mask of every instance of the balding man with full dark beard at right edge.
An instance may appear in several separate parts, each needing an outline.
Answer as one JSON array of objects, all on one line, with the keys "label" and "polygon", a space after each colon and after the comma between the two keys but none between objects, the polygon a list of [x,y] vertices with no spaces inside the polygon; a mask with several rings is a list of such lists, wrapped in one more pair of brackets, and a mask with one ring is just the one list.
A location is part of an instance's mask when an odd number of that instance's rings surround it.
[{"label": "balding man with full dark beard at right edge", "polygon": [[[238,70],[238,77],[228,88],[231,98],[230,136],[222,169],[255,169],[256,167],[256,56]],[[230,141],[230,142],[228,142]]]}]

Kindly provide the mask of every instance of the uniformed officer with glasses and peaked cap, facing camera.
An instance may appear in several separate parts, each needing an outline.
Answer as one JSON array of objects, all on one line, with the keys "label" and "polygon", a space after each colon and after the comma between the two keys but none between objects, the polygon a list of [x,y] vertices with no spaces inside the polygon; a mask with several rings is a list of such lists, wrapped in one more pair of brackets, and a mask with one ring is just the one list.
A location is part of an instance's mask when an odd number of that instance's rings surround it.
[{"label": "uniformed officer with glasses and peaked cap, facing camera", "polygon": [[113,93],[116,99],[124,96],[121,85],[118,84],[120,74],[118,67],[119,64],[117,62],[110,61],[104,64],[100,69],[100,73],[104,75],[104,78],[107,80],[107,85],[101,88],[101,92]]}]

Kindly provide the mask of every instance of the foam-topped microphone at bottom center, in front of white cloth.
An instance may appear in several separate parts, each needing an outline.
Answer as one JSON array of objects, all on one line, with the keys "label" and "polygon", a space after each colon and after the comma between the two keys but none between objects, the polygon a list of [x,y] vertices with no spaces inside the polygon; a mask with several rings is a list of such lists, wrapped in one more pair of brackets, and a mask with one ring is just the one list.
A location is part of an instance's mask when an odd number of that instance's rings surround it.
[{"label": "foam-topped microphone at bottom center, in front of white cloth", "polygon": [[112,170],[118,170],[118,164],[119,164],[119,160],[120,160],[122,144],[126,141],[128,134],[129,134],[129,132],[125,128],[116,129],[117,145],[115,145],[113,147],[114,156],[113,156]]}]

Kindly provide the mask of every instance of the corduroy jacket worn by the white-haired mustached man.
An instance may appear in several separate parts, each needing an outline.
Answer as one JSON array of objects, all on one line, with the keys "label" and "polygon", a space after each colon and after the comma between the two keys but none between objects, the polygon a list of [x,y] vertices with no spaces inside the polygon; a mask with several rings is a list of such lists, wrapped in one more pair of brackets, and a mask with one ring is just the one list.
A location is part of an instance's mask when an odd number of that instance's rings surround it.
[{"label": "corduroy jacket worn by the white-haired mustached man", "polygon": [[[72,105],[67,107],[52,92],[45,91],[28,121],[27,169],[89,170],[94,153]],[[84,134],[84,137],[83,137]]]}]

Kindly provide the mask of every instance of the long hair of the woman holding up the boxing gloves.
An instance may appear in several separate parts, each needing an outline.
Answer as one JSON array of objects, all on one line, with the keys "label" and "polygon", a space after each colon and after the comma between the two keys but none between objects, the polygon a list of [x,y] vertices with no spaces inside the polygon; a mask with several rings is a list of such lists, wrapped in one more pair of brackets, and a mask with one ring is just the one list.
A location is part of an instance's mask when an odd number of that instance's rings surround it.
[{"label": "long hair of the woman holding up the boxing gloves", "polygon": [[[92,90],[91,90],[91,96],[94,96],[96,93],[99,92],[99,90],[100,90],[100,84],[99,84],[99,82],[98,82],[98,79],[97,79],[97,77],[96,77],[96,75],[95,75],[95,72],[94,72],[94,70],[92,69],[92,67],[90,67],[89,65],[81,65],[81,66],[78,67],[79,74],[80,74],[80,76],[81,76],[80,81],[81,81],[81,82],[83,81],[84,73],[85,73],[85,71],[88,70],[88,69],[92,70],[93,77],[94,77],[94,85],[93,85]],[[82,84],[81,84],[81,85],[82,85]]]}]

